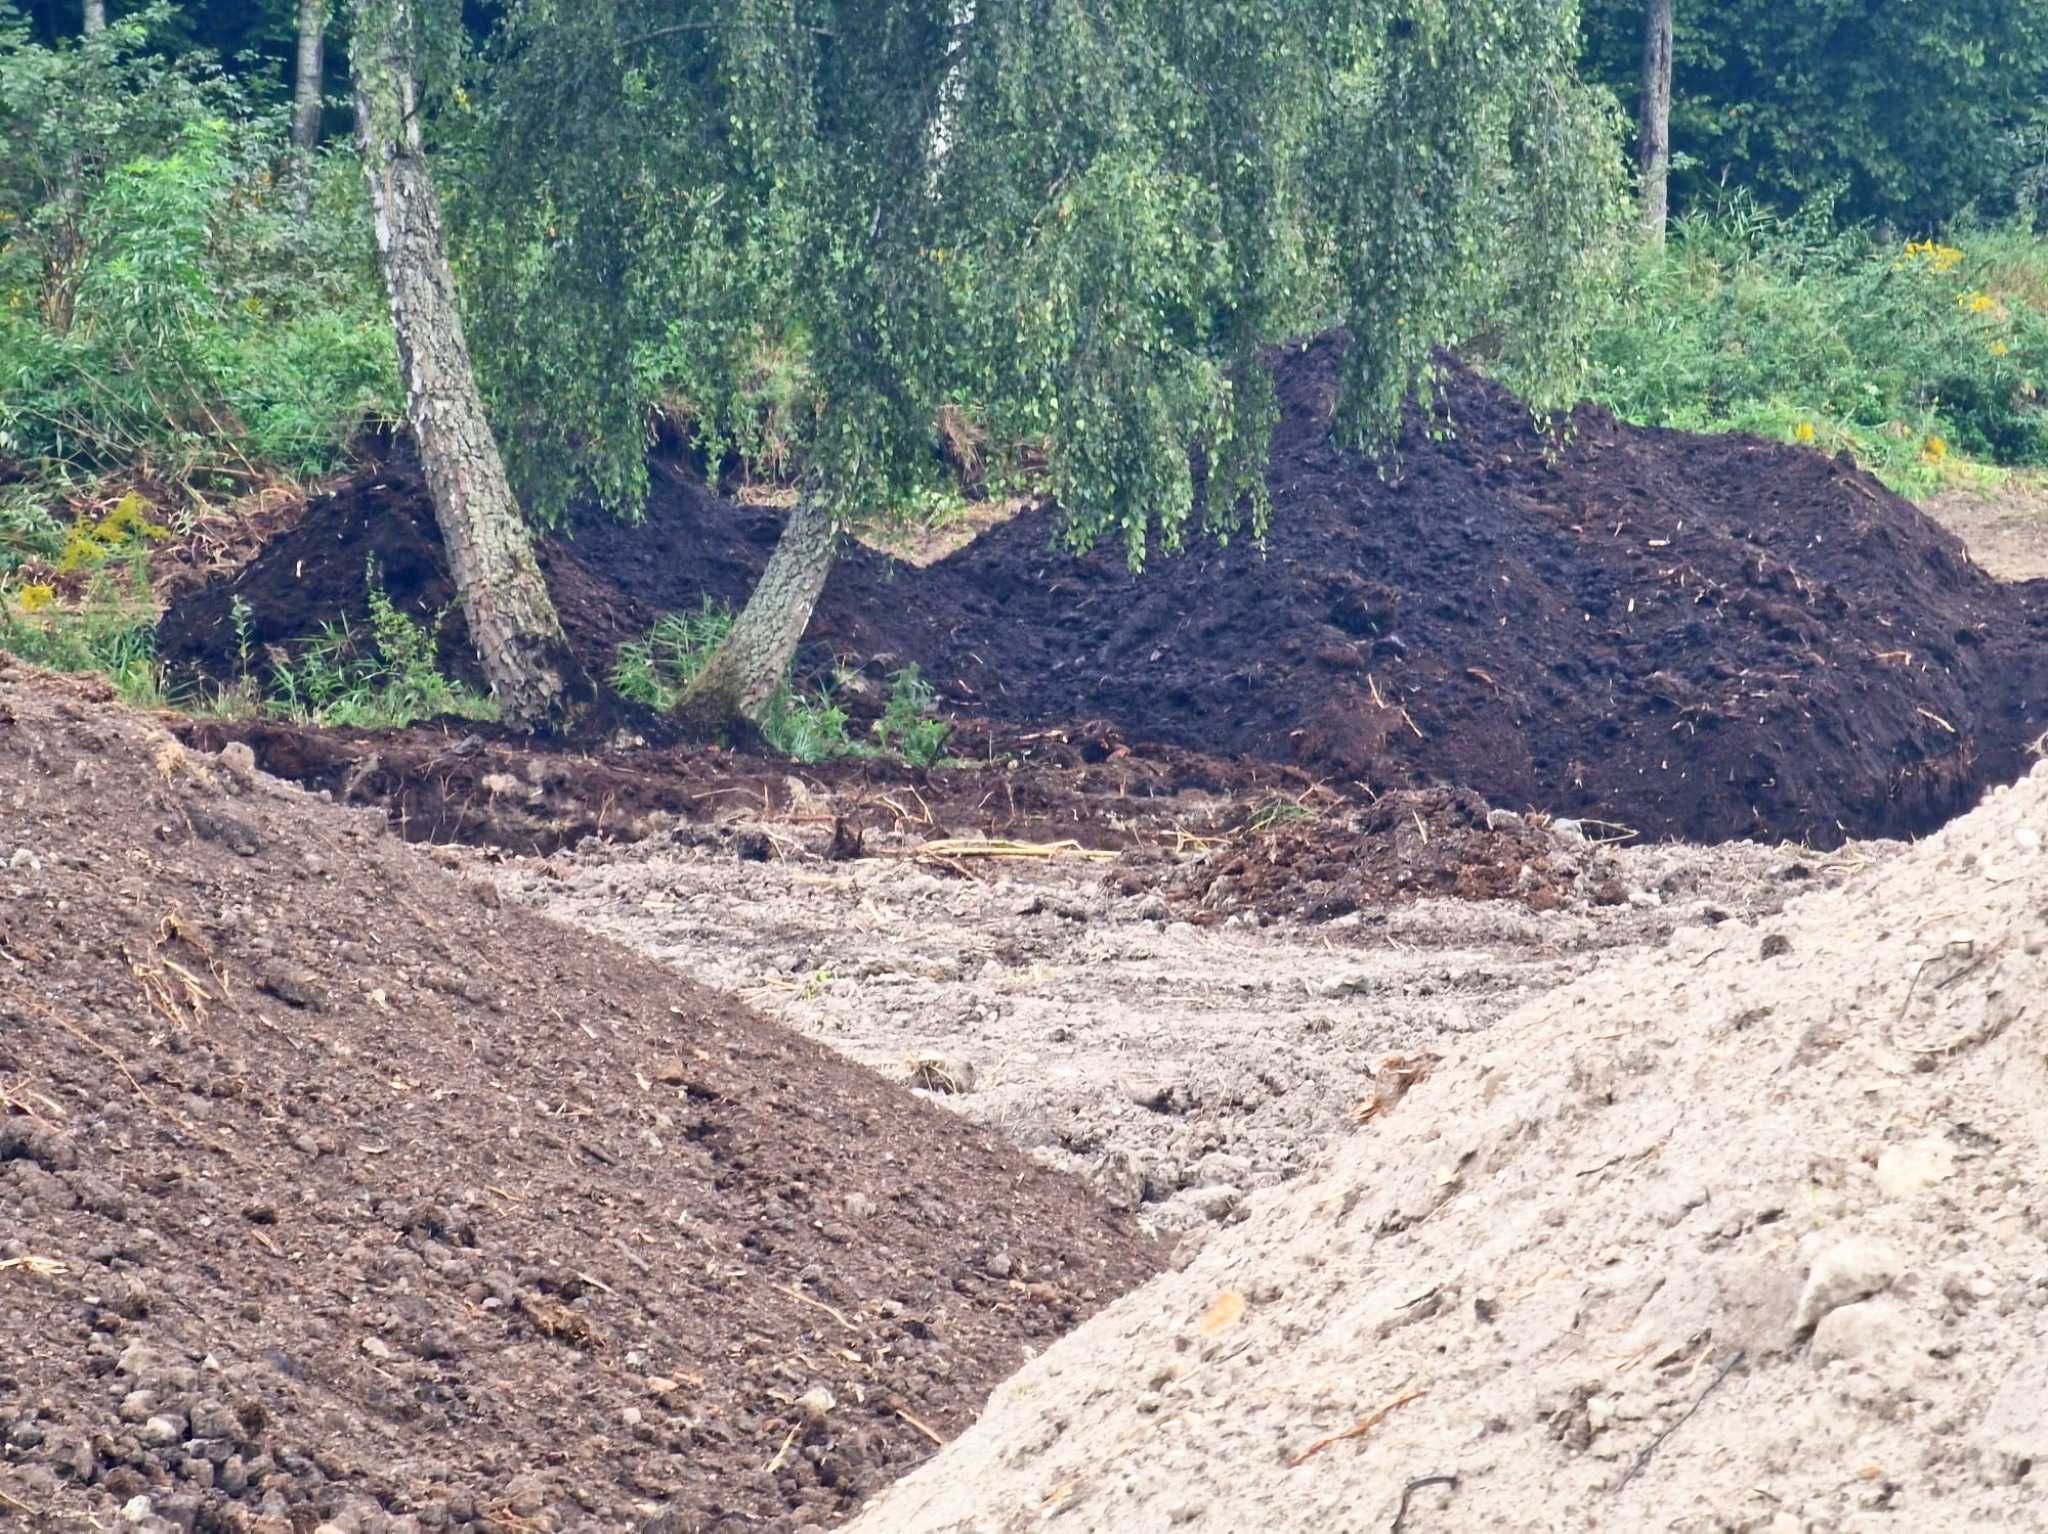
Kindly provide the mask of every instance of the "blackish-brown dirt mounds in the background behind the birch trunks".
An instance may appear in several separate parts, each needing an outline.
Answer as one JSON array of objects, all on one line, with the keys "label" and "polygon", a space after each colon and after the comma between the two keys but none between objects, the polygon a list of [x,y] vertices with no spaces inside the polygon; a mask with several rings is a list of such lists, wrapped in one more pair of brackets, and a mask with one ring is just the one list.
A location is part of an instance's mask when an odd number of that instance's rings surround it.
[{"label": "blackish-brown dirt mounds in the background behind the birch trunks", "polygon": [[[1321,338],[1276,358],[1264,547],[1204,543],[1133,578],[1112,553],[1051,553],[1053,514],[1030,512],[928,569],[856,551],[803,668],[915,659],[950,707],[1014,727],[1102,719],[1335,786],[1456,784],[1706,842],[1925,832],[2017,776],[2048,723],[2040,588],[1991,580],[1845,463],[1599,410],[1552,449],[1458,373],[1456,430],[1411,420],[1382,473],[1327,436],[1339,356]],[[319,520],[238,578],[258,612],[319,616]],[[653,612],[743,598],[774,535],[772,512],[670,467],[639,526],[586,520],[547,567],[602,670]],[[451,598],[438,580],[424,602]],[[172,608],[166,657],[219,674],[227,600]]]}]

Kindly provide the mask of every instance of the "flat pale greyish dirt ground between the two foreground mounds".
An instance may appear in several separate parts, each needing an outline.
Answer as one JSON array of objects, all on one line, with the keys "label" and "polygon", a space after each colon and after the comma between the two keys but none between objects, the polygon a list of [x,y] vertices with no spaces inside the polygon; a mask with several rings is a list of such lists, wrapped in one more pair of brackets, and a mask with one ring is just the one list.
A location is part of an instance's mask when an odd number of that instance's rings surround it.
[{"label": "flat pale greyish dirt ground between the two foreground mounds", "polygon": [[[963,879],[897,856],[907,836],[872,834],[883,856],[856,862],[788,819],[682,836],[498,860],[498,881],[922,1085],[1167,1231],[1229,1221],[1245,1192],[1298,1174],[1399,1077],[1391,1057],[1483,1032],[1661,944],[1679,915],[1757,918],[1882,856],[1608,854],[1567,834],[1561,909],[1425,899],[1319,926],[1192,926],[1155,891],[1118,893],[1116,864]],[[774,856],[741,856],[764,848]]]}]

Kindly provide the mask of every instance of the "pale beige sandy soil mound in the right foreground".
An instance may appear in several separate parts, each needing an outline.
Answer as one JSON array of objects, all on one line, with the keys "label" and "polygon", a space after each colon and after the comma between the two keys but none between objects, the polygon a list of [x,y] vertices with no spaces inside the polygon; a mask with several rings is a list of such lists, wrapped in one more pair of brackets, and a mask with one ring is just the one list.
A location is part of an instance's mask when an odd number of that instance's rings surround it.
[{"label": "pale beige sandy soil mound in the right foreground", "polygon": [[856,1528],[2048,1528],[2044,838],[1446,1038]]}]

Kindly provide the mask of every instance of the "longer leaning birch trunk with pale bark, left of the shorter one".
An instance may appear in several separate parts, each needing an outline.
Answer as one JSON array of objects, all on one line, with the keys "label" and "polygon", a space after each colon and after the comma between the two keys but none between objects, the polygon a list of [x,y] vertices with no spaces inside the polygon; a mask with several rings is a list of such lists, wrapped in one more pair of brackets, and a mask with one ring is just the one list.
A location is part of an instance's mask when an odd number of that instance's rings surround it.
[{"label": "longer leaning birch trunk with pale bark, left of the shorter one", "polygon": [[356,0],[352,20],[356,133],[391,295],[406,418],[420,444],[455,592],[506,719],[563,725],[590,696],[590,680],[561,635],[469,367],[440,203],[420,141],[412,0]]}]

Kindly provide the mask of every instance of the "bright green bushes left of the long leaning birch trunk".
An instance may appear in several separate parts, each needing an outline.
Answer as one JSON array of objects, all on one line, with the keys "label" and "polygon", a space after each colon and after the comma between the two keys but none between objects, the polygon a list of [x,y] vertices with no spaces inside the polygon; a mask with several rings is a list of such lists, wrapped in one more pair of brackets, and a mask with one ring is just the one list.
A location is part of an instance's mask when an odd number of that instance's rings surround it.
[{"label": "bright green bushes left of the long leaning birch trunk", "polygon": [[317,473],[397,399],[360,174],[281,174],[283,115],[156,47],[170,23],[0,25],[0,455],[45,506],[111,469]]}]

